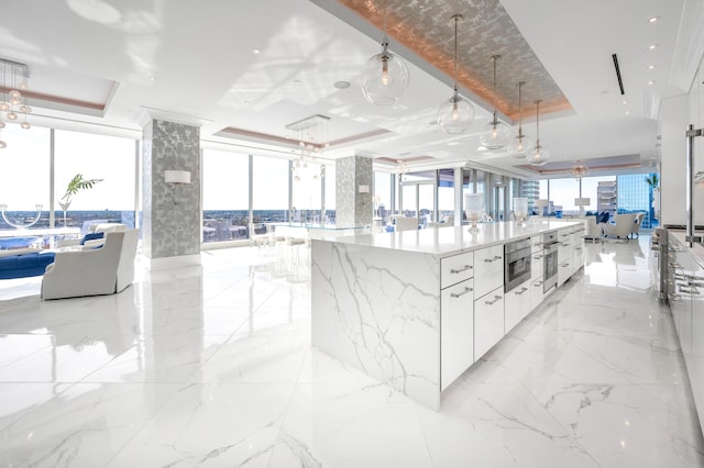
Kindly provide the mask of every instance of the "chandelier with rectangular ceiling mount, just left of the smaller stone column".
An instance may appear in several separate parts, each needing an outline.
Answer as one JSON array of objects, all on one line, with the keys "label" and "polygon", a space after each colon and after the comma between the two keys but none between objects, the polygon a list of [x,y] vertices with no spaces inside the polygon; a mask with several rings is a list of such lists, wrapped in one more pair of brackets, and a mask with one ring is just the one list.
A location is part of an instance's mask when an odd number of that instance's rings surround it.
[{"label": "chandelier with rectangular ceiling mount, just left of the smaller stone column", "polygon": [[322,164],[318,159],[322,149],[330,146],[328,122],[330,122],[330,118],[316,114],[286,125],[287,130],[294,132],[294,135],[289,137],[295,142],[292,149],[294,155],[292,171],[295,181],[300,181],[301,178],[308,176],[314,180],[323,177]]}]

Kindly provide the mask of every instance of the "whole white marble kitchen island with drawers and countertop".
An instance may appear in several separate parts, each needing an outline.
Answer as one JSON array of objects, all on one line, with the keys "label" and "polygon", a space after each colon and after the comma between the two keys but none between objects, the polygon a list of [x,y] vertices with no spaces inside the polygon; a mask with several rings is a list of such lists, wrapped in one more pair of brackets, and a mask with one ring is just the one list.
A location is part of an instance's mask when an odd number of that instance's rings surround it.
[{"label": "whole white marble kitchen island with drawers and countertop", "polygon": [[[560,243],[559,286],[583,264],[584,226],[539,219],[314,239],[312,345],[438,410],[442,391],[542,301],[543,234]],[[504,246],[520,239],[531,242],[531,272],[506,294]]]}]

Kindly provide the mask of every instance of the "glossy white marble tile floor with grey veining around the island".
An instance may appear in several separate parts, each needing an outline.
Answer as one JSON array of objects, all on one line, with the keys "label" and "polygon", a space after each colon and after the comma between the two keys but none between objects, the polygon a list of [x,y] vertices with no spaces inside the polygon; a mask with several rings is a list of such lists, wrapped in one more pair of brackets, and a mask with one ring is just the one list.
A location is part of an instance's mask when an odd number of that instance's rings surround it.
[{"label": "glossy white marble tile floor with grey veining around the island", "polygon": [[587,243],[440,412],[311,349],[309,271],[272,253],[110,297],[1,281],[0,467],[704,467],[648,243]]}]

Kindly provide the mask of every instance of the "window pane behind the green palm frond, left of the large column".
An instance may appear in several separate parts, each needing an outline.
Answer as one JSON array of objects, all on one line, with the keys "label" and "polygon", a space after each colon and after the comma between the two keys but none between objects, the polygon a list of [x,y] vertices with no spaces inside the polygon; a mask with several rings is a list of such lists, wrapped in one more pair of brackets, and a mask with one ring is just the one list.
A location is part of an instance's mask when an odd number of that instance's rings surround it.
[{"label": "window pane behind the green palm frond, left of the large column", "polygon": [[136,145],[132,138],[56,130],[54,136],[54,197],[58,204],[76,176],[98,179],[92,188],[73,196],[64,213],[56,210],[56,225],[117,222],[134,227]]}]

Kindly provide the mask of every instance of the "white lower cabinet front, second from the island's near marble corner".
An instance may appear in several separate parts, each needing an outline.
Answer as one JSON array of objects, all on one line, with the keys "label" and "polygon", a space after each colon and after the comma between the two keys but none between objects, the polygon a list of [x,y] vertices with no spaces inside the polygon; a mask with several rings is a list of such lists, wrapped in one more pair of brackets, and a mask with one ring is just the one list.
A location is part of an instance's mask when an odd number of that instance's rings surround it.
[{"label": "white lower cabinet front, second from the island's near marble corner", "polygon": [[504,286],[502,285],[474,301],[474,360],[482,357],[503,337]]}]

